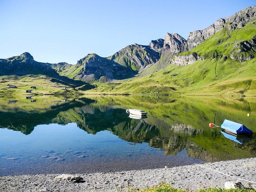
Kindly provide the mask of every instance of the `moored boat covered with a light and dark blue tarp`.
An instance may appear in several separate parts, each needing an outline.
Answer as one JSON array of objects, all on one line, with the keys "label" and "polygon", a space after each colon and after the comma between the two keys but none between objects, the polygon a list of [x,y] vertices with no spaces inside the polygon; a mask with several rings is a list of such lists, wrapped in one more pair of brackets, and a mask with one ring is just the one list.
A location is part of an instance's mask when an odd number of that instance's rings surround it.
[{"label": "moored boat covered with a light and dark blue tarp", "polygon": [[224,122],[221,125],[221,128],[226,129],[230,132],[233,133],[238,133],[238,134],[252,134],[252,131],[248,129],[246,126],[240,123],[236,123],[230,120],[224,120]]}]

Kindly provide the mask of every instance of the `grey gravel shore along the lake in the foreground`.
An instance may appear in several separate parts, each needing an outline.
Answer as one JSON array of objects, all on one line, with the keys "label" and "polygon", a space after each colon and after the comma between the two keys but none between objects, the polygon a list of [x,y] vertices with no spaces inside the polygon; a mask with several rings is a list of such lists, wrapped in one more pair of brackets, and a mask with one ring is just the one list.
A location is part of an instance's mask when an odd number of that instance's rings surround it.
[{"label": "grey gravel shore along the lake in the foreground", "polygon": [[[221,173],[220,173],[221,172]],[[160,182],[174,188],[224,188],[225,182],[256,187],[256,158],[152,170],[77,174],[78,182],[56,179],[60,174],[1,176],[1,192],[114,192],[145,189]],[[249,184],[251,182],[251,184]]]}]

